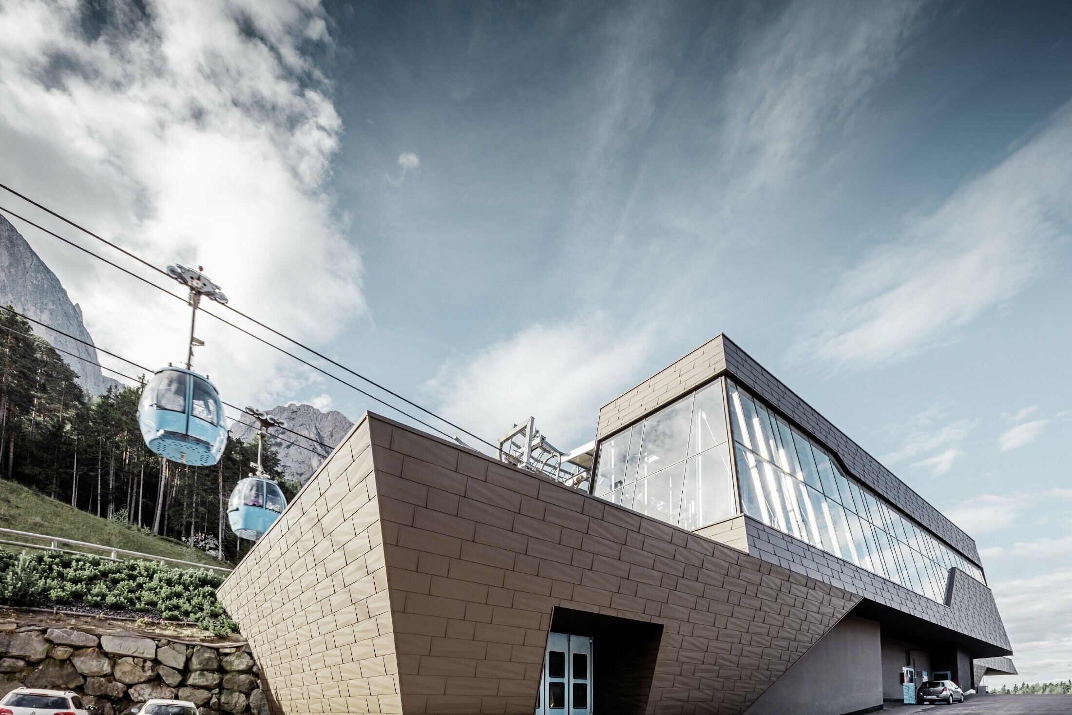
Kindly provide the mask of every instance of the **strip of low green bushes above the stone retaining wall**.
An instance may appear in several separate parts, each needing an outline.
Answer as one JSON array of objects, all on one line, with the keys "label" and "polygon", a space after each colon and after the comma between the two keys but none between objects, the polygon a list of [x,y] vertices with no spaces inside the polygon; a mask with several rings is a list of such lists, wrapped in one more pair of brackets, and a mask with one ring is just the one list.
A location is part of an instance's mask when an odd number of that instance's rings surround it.
[{"label": "strip of low green bushes above the stone retaining wall", "polygon": [[113,611],[158,612],[192,621],[217,636],[238,630],[215,597],[223,577],[206,569],[83,554],[0,551],[0,604],[85,605]]}]

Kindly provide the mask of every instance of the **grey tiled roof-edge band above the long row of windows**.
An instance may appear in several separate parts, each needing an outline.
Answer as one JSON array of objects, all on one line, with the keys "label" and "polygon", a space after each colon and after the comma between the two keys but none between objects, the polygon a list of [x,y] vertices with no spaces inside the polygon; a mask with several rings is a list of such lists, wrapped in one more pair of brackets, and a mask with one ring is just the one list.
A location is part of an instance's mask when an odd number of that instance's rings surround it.
[{"label": "grey tiled roof-edge band above the long row of windows", "polygon": [[940,537],[969,561],[982,566],[976,541],[947,519],[938,509],[912,491],[908,485],[882,466],[860,445],[834,427],[822,415],[804,402],[795,392],[783,385],[776,377],[756,362],[747,353],[725,336],[724,345],[726,370],[790,419],[809,431],[825,444],[842,460],[852,476],[877,491],[895,506],[915,519],[924,527]]}]

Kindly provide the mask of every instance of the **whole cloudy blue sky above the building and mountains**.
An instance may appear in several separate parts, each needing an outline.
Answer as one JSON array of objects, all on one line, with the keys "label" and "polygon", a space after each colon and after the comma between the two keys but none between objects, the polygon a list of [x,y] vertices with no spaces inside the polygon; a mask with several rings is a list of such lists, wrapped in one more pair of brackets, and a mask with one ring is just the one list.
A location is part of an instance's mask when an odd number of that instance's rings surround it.
[{"label": "whole cloudy blue sky above the building and mountains", "polygon": [[[0,182],[489,441],[583,444],[725,332],[976,538],[993,684],[1072,677],[1067,3],[0,0]],[[182,359],[180,301],[12,221],[102,347]],[[229,402],[399,417],[199,326]]]}]

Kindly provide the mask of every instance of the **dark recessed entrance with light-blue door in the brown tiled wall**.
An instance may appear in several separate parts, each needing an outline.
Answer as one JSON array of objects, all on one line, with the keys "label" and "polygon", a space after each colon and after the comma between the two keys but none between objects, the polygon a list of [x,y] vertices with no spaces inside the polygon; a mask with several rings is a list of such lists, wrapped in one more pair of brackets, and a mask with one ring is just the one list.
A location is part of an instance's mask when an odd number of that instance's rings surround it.
[{"label": "dark recessed entrance with light-blue door in the brown tiled wall", "polygon": [[555,608],[536,715],[643,715],[662,626]]}]

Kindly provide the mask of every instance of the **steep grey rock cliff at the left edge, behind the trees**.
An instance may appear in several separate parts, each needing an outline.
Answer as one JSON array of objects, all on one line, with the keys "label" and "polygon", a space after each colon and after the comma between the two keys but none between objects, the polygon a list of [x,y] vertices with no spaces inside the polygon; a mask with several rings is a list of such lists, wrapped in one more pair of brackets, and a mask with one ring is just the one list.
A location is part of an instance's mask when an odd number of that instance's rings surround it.
[{"label": "steep grey rock cliff at the left edge, behind the trees", "polygon": [[[79,340],[93,342],[83,324],[81,309],[71,302],[56,273],[38,257],[26,239],[3,215],[0,215],[0,306],[11,306],[18,312],[56,326]],[[90,394],[103,394],[108,386],[119,385],[117,381],[101,373],[93,348],[38,325],[33,326],[33,332],[61,351],[91,360],[86,362],[69,355],[62,356]]]}]

